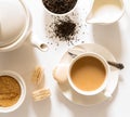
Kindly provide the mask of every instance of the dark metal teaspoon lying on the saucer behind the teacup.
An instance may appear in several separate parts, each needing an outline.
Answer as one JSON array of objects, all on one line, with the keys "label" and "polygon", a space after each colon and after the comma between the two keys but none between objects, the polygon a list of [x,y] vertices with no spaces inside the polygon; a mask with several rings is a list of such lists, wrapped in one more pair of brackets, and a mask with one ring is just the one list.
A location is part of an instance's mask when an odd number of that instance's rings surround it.
[{"label": "dark metal teaspoon lying on the saucer behind the teacup", "polygon": [[[76,57],[76,56],[77,56],[77,54],[74,54],[74,53],[72,53],[72,52],[69,52],[69,51],[68,51],[68,54],[69,54],[72,57]],[[107,63],[108,63],[109,65],[118,68],[118,69],[123,69],[123,68],[125,68],[125,66],[123,66],[122,63],[110,62],[110,61],[107,61]]]}]

